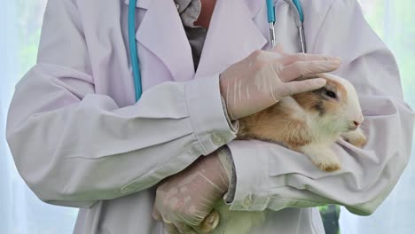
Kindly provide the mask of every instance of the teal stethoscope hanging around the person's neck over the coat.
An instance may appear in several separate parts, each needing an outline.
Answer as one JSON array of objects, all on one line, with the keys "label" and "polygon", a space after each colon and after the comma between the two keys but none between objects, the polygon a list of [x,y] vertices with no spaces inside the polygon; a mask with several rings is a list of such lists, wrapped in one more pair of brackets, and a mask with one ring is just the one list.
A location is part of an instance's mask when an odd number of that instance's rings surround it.
[{"label": "teal stethoscope hanging around the person's neck over the coat", "polygon": [[[290,7],[295,10],[295,25],[298,27],[298,33],[300,35],[300,46],[303,53],[307,52],[305,35],[304,35],[304,15],[300,0],[284,0]],[[270,23],[270,42],[271,46],[275,47],[275,6],[273,0],[266,0],[267,2],[267,15],[268,22]],[[134,89],[136,92],[136,101],[141,98],[141,74],[138,66],[137,56],[137,43],[136,43],[136,4],[137,0],[129,0],[129,56],[131,59],[131,66],[134,76]]]}]

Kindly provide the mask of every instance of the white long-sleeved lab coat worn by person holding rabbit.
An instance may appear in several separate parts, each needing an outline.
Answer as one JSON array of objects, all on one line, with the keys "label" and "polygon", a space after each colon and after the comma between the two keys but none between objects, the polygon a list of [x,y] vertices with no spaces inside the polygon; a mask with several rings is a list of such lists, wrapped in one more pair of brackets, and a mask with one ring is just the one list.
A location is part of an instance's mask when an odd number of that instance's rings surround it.
[{"label": "white long-sleeved lab coat worn by person holding rabbit", "polygon": [[[232,141],[218,74],[269,49],[265,1],[218,0],[195,73],[171,0],[138,0],[143,97],[135,103],[128,0],[50,0],[37,64],[17,84],[7,139],[20,175],[45,202],[81,207],[74,233],[161,233],[154,185],[227,144],[235,162],[233,210],[263,211],[253,233],[324,233],[316,207],[372,214],[411,154],[413,113],[395,59],[356,0],[303,0],[309,53],[342,58],[335,74],[356,86],[369,142],[333,148],[326,173],[280,145]],[[299,51],[294,12],[277,5],[277,42]],[[304,207],[304,208],[302,208]]]}]

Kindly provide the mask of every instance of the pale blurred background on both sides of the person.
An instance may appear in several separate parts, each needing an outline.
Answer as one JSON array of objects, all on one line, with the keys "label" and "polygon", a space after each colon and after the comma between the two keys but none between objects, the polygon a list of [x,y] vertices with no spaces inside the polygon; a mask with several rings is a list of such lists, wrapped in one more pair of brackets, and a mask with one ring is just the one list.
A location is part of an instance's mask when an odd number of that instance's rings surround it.
[{"label": "pale blurred background on both sides of the person", "polygon": [[[359,2],[366,20],[394,52],[405,100],[415,107],[415,1]],[[46,0],[0,0],[4,22],[0,24],[0,233],[4,234],[72,233],[77,214],[76,209],[47,205],[35,197],[20,178],[4,137],[14,85],[35,64],[45,4]],[[414,156],[415,149],[395,190],[375,214],[361,217],[341,207],[321,207],[326,234],[414,233]]]}]

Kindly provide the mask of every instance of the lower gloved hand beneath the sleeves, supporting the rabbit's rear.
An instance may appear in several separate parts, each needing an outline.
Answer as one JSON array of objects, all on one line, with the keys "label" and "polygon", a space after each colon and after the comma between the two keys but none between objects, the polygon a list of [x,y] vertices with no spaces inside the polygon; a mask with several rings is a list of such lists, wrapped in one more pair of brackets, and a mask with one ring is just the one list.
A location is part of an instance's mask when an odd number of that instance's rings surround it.
[{"label": "lower gloved hand beneath the sleeves, supporting the rabbit's rear", "polygon": [[164,222],[168,233],[207,233],[215,229],[219,217],[211,212],[229,187],[230,168],[225,167],[213,152],[164,179],[157,187],[153,218]]}]

